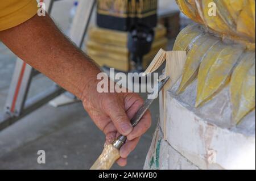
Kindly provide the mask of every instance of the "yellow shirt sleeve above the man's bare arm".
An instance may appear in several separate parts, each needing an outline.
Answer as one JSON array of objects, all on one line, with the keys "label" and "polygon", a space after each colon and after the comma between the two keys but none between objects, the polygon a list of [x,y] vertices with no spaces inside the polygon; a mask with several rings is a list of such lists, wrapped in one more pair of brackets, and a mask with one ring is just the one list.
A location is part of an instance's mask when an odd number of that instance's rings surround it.
[{"label": "yellow shirt sleeve above the man's bare arm", "polygon": [[0,1],[0,31],[18,26],[38,11],[36,0]]}]

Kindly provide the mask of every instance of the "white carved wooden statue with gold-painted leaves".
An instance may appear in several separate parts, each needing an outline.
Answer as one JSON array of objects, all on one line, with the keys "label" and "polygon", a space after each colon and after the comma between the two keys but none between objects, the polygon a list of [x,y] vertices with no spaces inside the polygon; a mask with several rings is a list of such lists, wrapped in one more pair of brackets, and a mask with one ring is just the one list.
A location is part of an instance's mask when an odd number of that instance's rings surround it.
[{"label": "white carved wooden statue with gold-painted leaves", "polygon": [[[176,38],[187,57],[160,95],[144,169],[255,169],[255,0],[176,2],[196,23]],[[183,64],[161,51],[166,74]]]}]

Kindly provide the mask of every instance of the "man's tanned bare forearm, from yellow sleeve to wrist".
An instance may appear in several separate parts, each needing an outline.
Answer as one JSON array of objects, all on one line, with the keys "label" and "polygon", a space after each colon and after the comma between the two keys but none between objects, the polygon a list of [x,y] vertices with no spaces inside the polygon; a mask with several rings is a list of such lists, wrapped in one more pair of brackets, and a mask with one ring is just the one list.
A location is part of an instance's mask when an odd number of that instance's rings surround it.
[{"label": "man's tanned bare forearm, from yellow sleeve to wrist", "polygon": [[0,31],[0,39],[27,64],[80,99],[89,81],[95,81],[100,72],[48,15],[35,15],[19,26]]}]

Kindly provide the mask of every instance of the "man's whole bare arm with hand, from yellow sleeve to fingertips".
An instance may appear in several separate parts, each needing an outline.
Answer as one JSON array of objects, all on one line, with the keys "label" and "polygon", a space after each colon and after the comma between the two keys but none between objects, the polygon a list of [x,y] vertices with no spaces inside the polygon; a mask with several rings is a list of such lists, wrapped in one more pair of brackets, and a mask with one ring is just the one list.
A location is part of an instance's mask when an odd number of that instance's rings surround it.
[{"label": "man's whole bare arm with hand, from yellow sleeve to fingertips", "polygon": [[130,119],[143,100],[134,93],[98,93],[100,69],[58,30],[48,15],[35,15],[19,26],[0,31],[0,39],[27,64],[81,99],[94,123],[105,133],[107,144],[120,133],[127,136],[117,161],[126,165],[126,157],[151,124],[150,113],[146,112],[139,124],[131,127]]}]

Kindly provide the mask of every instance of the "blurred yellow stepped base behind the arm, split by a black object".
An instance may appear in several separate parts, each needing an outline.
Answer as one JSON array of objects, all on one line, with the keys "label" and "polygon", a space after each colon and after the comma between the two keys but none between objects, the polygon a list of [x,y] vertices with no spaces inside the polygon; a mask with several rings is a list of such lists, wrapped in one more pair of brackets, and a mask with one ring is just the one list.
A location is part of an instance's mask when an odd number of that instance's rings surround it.
[{"label": "blurred yellow stepped base behind the arm, split by a black object", "polygon": [[[146,69],[160,48],[167,46],[166,28],[155,28],[156,37],[151,51],[143,56],[143,68]],[[100,66],[115,68],[119,71],[131,69],[130,53],[127,48],[127,32],[93,27],[89,30],[85,52]]]}]

